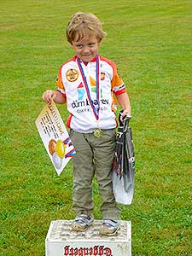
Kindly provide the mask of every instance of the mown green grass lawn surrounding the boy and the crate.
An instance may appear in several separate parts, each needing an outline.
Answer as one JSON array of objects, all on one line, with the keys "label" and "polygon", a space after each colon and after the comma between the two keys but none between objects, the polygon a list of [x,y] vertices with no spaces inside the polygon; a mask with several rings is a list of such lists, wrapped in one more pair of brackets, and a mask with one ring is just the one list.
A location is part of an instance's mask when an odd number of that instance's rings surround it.
[{"label": "mown green grass lawn surrounding the boy and the crate", "polygon": [[[77,11],[103,21],[100,54],[116,62],[131,98],[135,195],[121,218],[132,222],[132,255],[191,255],[191,1],[0,3],[0,255],[44,255],[50,221],[74,217],[72,165],[57,177],[34,121],[73,55],[64,32]],[[94,198],[101,218],[96,183]]]}]

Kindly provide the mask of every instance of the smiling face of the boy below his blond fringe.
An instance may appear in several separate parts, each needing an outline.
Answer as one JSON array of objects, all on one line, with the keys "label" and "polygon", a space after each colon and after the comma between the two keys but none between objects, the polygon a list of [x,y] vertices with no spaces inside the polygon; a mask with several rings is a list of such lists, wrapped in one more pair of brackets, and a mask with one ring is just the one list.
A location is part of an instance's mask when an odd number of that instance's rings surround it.
[{"label": "smiling face of the boy below his blond fringe", "polygon": [[72,42],[73,49],[81,61],[91,61],[98,54],[99,44],[96,36]]}]

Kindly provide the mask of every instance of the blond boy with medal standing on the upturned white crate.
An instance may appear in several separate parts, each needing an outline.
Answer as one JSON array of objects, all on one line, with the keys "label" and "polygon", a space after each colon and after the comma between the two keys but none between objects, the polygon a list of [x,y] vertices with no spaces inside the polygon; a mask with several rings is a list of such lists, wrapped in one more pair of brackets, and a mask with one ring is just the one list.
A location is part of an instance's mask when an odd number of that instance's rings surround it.
[{"label": "blond boy with medal standing on the upturned white crate", "polygon": [[61,66],[57,90],[46,90],[44,102],[67,102],[67,127],[76,149],[73,157],[73,230],[84,231],[93,223],[92,179],[96,175],[102,195],[100,235],[119,230],[119,207],[112,186],[115,150],[116,99],[122,119],[131,115],[129,97],[112,61],[98,55],[105,32],[92,14],[77,13],[69,20],[67,41],[75,56]]}]

